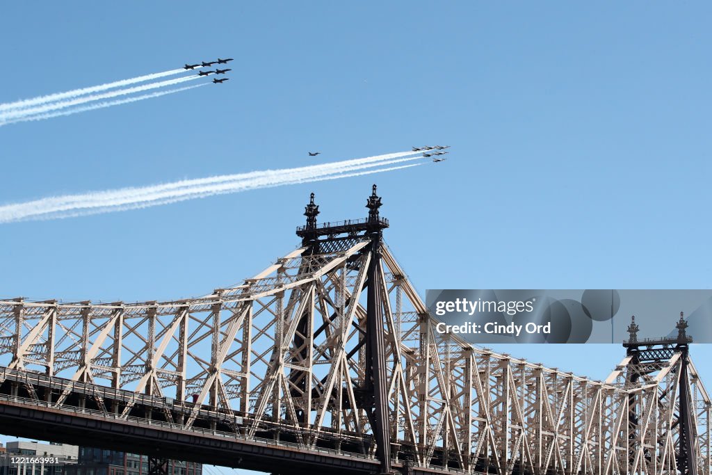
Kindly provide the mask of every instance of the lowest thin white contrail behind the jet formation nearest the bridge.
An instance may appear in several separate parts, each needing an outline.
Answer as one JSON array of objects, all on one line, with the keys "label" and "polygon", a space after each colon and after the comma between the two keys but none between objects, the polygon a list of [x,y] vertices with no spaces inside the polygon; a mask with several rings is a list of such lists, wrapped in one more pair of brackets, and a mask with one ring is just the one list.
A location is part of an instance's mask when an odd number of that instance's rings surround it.
[{"label": "lowest thin white contrail behind the jet formation nearest the bridge", "polygon": [[[188,199],[198,199],[198,198],[210,197],[210,196],[214,196],[216,194],[239,193],[239,192],[247,191],[249,189],[274,188],[274,187],[281,187],[286,184],[323,182],[323,181],[330,180],[330,179],[340,179],[340,178],[347,178],[347,177],[361,177],[361,176],[367,175],[367,174],[390,172],[392,170],[398,170],[398,169],[404,169],[404,168],[410,168],[410,167],[418,167],[419,165],[425,165],[425,162],[412,163],[410,165],[399,165],[398,167],[387,167],[387,168],[363,170],[360,172],[330,174],[325,177],[290,179],[290,180],[284,180],[281,182],[261,184],[258,186],[241,186],[242,185],[241,183],[236,183],[236,184],[233,184],[233,186],[231,186],[231,187],[224,187],[224,189],[221,189],[219,191],[216,190],[214,192],[204,192],[201,194],[194,194],[194,195],[189,195],[189,196],[164,198],[164,199],[159,199],[159,200],[152,201],[152,202],[127,203],[127,204],[122,204],[119,206],[112,206],[112,207],[107,206],[107,207],[100,207],[100,208],[93,208],[93,209],[74,209],[74,210],[70,210],[70,211],[66,211],[66,212],[55,212],[52,214],[42,214],[40,216],[33,216],[32,218],[28,218],[28,219],[33,219],[36,221],[47,221],[49,219],[77,218],[80,216],[90,216],[92,214],[105,214],[105,213],[113,213],[113,212],[130,211],[132,209],[144,209],[144,208],[149,208],[149,207],[160,206],[163,204],[172,204],[172,203],[182,202],[182,201],[186,201]],[[22,219],[21,221],[26,221],[26,220],[27,219]],[[16,220],[16,221],[20,221],[20,220]],[[11,222],[11,221],[3,221],[0,218],[0,224],[2,224],[4,222]]]}]

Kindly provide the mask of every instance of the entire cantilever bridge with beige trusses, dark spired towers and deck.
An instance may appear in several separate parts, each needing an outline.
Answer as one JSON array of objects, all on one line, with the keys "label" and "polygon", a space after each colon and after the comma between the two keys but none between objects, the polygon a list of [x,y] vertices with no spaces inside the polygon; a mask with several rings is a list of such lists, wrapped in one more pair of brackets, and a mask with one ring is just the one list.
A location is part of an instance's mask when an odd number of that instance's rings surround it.
[{"label": "entire cantilever bridge with beige trusses, dark spired towers and deck", "polygon": [[676,339],[605,382],[434,330],[367,219],[317,224],[184,301],[0,301],[0,432],[274,474],[710,474],[710,400]]}]

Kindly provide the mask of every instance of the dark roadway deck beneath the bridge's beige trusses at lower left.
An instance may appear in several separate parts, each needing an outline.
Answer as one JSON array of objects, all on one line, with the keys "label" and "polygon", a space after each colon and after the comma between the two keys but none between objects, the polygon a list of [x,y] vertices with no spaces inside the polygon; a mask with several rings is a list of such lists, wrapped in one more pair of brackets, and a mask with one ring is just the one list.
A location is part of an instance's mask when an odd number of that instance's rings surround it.
[{"label": "dark roadway deck beneath the bridge's beige trusses at lower left", "polygon": [[[3,387],[7,387],[8,383],[26,385],[28,376],[27,372],[0,368],[0,377],[4,377]],[[144,403],[165,403],[159,397],[137,395],[125,390],[72,382],[38,373],[31,375],[31,384],[36,389],[46,387],[55,391],[71,387],[75,395],[105,392],[117,399],[138,398]],[[201,409],[200,412],[209,411]],[[122,419],[112,412],[75,405],[64,404],[57,408],[51,402],[6,394],[5,391],[0,392],[0,433],[273,474],[357,475],[373,474],[378,469],[377,461],[366,454],[323,447],[308,449],[290,442],[247,437],[239,431],[186,428],[177,423],[142,417],[129,416]],[[393,461],[393,465],[394,469],[402,466],[399,461]],[[433,466],[428,469],[414,468],[412,473],[454,474],[462,471]]]}]

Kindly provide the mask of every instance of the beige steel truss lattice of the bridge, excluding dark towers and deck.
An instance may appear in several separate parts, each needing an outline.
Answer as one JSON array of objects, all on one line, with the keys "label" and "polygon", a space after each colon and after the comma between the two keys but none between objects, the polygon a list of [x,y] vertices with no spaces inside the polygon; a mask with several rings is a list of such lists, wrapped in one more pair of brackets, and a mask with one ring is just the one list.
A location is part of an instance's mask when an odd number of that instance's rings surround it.
[{"label": "beige steel truss lattice of the bridge, excluding dark towers and deck", "polygon": [[[336,434],[372,455],[360,392],[372,256],[368,239],[349,244],[295,249],[240,286],[185,301],[1,301],[0,364],[196,400],[185,427],[202,404],[244,415],[245,434],[278,424],[305,449]],[[711,473],[710,400],[686,355],[654,367],[627,357],[598,382],[473,348],[436,332],[386,246],[379,266],[394,457],[498,474],[676,473],[685,374],[697,471]]]}]

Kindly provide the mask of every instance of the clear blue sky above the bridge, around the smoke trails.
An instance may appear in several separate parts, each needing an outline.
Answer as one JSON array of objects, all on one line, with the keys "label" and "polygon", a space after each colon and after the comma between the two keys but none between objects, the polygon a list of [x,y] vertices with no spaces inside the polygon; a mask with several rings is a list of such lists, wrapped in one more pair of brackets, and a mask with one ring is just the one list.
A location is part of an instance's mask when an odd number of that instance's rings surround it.
[{"label": "clear blue sky above the bridge, around the smoke trails", "polygon": [[[376,177],[0,225],[0,296],[201,295],[293,249],[310,192],[320,219],[362,217],[373,182],[423,294],[709,288],[711,14],[701,1],[7,3],[0,103],[235,61],[221,86],[0,127],[0,204],[452,148]],[[623,354],[515,350],[597,378]]]}]

